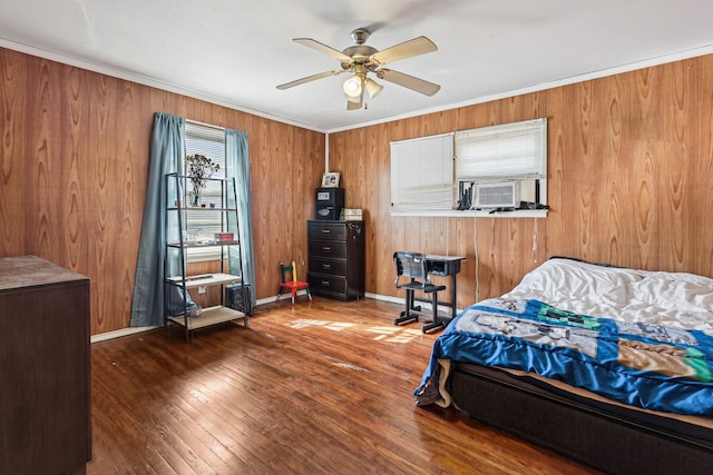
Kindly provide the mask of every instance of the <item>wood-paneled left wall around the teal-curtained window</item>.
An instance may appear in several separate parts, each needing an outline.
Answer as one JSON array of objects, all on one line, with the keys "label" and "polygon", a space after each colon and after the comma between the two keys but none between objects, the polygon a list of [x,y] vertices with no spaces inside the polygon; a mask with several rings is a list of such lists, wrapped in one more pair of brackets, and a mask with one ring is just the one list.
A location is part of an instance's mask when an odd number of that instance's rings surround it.
[{"label": "wood-paneled left wall around the teal-curtained window", "polygon": [[91,279],[91,333],[128,327],[153,116],[250,137],[257,297],[306,260],[324,135],[0,48],[0,257]]}]

